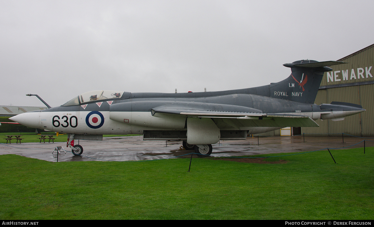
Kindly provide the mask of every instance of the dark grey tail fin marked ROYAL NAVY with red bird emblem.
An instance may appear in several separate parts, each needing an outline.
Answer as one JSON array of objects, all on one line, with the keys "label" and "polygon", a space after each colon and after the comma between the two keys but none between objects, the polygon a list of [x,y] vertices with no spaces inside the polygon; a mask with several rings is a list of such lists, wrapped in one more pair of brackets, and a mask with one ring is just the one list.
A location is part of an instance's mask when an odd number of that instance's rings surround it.
[{"label": "dark grey tail fin marked ROYAL NAVY with red bird emblem", "polygon": [[270,97],[287,99],[295,102],[314,103],[324,72],[332,71],[327,67],[346,62],[299,60],[286,63],[291,68],[291,75],[281,82],[270,84]]}]

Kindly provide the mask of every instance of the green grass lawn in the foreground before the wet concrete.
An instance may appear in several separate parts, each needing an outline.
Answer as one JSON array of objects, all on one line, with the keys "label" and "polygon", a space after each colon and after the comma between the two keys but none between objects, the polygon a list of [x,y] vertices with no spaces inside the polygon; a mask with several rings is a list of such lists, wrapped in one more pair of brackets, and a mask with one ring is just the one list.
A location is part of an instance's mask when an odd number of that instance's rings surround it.
[{"label": "green grass lawn in the foreground before the wet concrete", "polygon": [[0,155],[0,219],[373,219],[374,148],[331,153],[337,164],[328,151],[265,159],[283,164],[194,158],[190,172],[189,158]]}]

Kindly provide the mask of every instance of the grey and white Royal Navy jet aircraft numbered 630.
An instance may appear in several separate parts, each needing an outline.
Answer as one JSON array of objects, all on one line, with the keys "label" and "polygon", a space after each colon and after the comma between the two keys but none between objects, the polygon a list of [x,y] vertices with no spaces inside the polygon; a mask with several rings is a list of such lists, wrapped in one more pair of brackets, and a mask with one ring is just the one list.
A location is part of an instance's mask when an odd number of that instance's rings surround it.
[{"label": "grey and white Royal Navy jet aircraft numbered 630", "polygon": [[291,75],[261,87],[197,93],[90,91],[62,106],[31,111],[12,119],[29,127],[68,134],[74,155],[83,148],[74,139],[102,140],[103,134],[143,134],[144,140],[183,140],[186,149],[210,155],[223,139],[284,127],[318,127],[313,119],[343,120],[365,111],[352,103],[314,104],[327,67],[344,62],[299,60],[284,64]]}]

